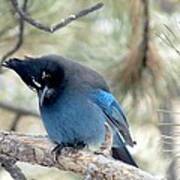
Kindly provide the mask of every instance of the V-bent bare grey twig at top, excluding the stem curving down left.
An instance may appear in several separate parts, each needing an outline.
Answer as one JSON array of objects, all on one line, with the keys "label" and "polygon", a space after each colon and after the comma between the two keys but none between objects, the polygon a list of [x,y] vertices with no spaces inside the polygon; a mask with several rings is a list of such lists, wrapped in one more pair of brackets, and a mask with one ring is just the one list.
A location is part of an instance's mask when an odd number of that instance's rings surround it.
[{"label": "V-bent bare grey twig at top, excluding the stem curving down left", "polygon": [[57,30],[59,30],[60,28],[65,27],[66,25],[70,24],[71,22],[73,22],[74,20],[85,16],[91,12],[94,12],[98,9],[100,9],[103,6],[103,3],[97,3],[87,9],[81,10],[76,14],[72,14],[64,19],[61,19],[60,22],[58,22],[55,25],[45,25],[42,24],[41,22],[33,19],[31,16],[29,16],[25,11],[23,11],[23,9],[21,9],[18,5],[18,1],[17,0],[10,0],[14,9],[16,10],[16,12],[20,15],[20,17],[26,21],[27,23],[31,24],[32,26],[35,26],[36,28],[43,30],[45,32],[49,32],[49,33],[53,33]]}]

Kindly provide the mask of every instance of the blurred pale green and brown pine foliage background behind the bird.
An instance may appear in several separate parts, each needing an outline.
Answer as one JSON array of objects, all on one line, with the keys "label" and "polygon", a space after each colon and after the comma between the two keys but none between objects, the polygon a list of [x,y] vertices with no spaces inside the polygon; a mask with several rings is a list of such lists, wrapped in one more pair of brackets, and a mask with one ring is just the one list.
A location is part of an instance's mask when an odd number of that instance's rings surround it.
[{"label": "blurred pale green and brown pine foliage background behind the bird", "polygon": [[[54,33],[24,24],[13,57],[58,53],[100,72],[126,111],[137,142],[130,149],[152,174],[180,179],[180,1],[103,0],[104,7]],[[20,4],[23,1],[19,1]],[[29,0],[27,12],[45,24],[97,3],[96,0]],[[18,14],[0,0],[0,56],[15,46]],[[0,128],[46,134],[38,101],[14,72],[1,69]],[[79,179],[53,168],[18,163],[28,179]],[[0,179],[11,179],[0,169]]]}]

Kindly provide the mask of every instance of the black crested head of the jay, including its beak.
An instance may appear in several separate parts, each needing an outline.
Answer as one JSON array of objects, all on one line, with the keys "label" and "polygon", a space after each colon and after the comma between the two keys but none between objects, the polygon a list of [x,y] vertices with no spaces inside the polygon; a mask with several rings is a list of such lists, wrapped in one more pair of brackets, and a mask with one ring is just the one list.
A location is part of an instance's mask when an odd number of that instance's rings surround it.
[{"label": "black crested head of the jay, including its beak", "polygon": [[53,102],[64,87],[64,68],[52,58],[14,58],[3,66],[14,70],[27,86],[37,91],[41,106]]}]

